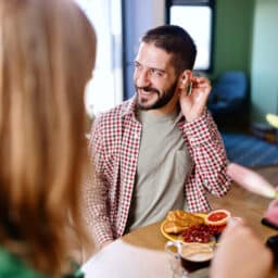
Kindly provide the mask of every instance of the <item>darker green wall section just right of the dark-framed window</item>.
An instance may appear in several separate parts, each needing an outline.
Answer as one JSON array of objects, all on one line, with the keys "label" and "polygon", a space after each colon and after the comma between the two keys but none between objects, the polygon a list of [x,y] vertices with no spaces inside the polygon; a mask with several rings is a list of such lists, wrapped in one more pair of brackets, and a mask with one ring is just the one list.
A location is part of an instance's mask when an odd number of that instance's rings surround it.
[{"label": "darker green wall section just right of the dark-framed window", "polygon": [[254,0],[217,0],[212,78],[225,71],[250,76]]}]

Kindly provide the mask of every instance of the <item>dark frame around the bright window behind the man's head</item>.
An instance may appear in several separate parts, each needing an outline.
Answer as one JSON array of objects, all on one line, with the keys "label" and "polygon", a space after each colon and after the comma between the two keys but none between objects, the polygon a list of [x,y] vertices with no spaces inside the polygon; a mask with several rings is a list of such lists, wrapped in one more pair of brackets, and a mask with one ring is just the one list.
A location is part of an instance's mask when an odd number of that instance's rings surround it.
[{"label": "dark frame around the bright window behind the man's head", "polygon": [[212,10],[212,21],[211,21],[211,40],[210,40],[210,53],[208,53],[208,67],[194,70],[197,72],[210,74],[214,70],[214,40],[215,40],[215,2],[216,0],[165,0],[166,5],[166,24],[170,24],[170,8],[174,5],[188,5],[188,7],[208,7]]}]

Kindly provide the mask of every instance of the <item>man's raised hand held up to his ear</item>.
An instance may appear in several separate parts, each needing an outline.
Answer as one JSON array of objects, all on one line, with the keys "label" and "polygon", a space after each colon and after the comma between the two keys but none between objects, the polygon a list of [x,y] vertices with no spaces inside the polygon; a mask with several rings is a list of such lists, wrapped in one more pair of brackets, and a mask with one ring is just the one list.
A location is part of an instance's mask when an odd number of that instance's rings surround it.
[{"label": "man's raised hand held up to his ear", "polygon": [[[191,93],[188,94],[190,83],[192,84]],[[182,83],[179,89],[179,104],[186,119],[192,122],[202,116],[212,89],[210,80],[205,77],[193,76],[190,71],[186,71],[185,83]]]}]

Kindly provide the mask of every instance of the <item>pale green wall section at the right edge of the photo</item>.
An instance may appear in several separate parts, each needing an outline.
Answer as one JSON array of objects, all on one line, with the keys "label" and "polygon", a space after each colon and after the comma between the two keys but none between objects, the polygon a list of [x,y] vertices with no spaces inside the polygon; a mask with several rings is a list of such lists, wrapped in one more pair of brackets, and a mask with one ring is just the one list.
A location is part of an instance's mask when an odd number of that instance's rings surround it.
[{"label": "pale green wall section at the right edge of the photo", "polygon": [[278,1],[257,0],[252,50],[252,121],[278,113]]}]

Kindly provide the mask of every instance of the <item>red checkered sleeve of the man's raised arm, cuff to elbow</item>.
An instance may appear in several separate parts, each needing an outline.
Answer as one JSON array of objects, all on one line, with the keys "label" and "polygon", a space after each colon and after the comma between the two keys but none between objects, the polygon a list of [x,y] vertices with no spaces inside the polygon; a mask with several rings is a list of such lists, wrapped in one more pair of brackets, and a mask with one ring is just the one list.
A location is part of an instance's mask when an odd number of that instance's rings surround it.
[{"label": "red checkered sleeve of the man's raised arm, cuff to elbow", "polygon": [[208,111],[200,118],[186,123],[185,132],[193,153],[195,182],[216,197],[226,194],[231,184],[227,176],[228,160],[222,137]]}]

